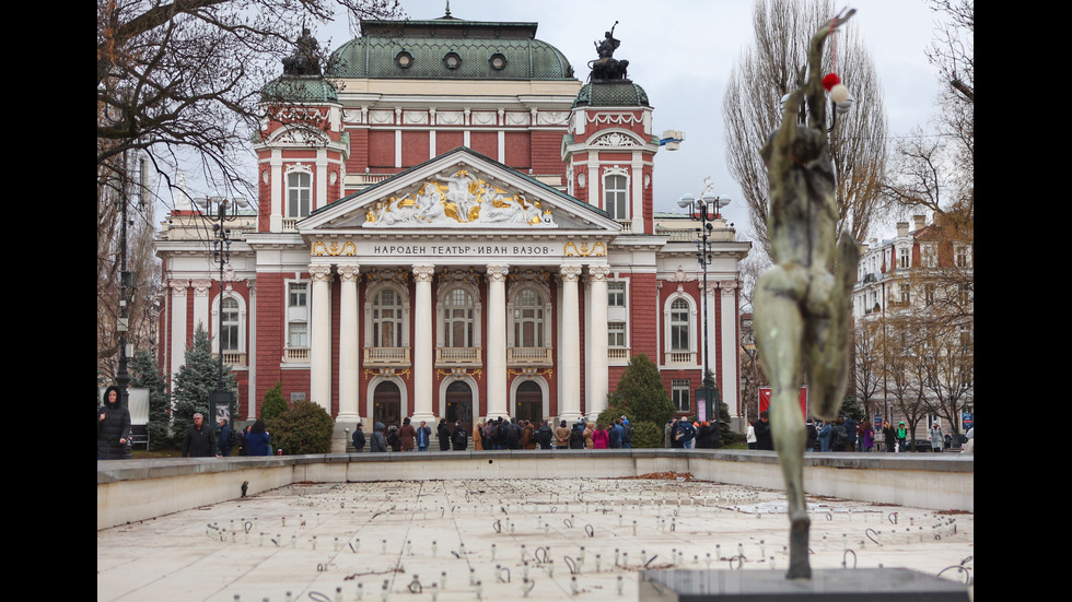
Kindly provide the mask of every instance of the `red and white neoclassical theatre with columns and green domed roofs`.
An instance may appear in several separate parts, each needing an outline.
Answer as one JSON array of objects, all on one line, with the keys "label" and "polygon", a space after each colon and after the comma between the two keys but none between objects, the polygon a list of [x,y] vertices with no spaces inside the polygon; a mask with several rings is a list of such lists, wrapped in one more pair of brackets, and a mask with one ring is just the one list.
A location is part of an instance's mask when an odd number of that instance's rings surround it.
[{"label": "red and white neoclassical theatre with columns and green domed roofs", "polygon": [[575,73],[536,23],[361,28],[323,73],[299,52],[266,90],[259,198],[224,224],[222,282],[202,209],[164,222],[161,366],[178,370],[200,324],[237,375],[240,417],[279,382],[370,429],[594,417],[644,354],[684,415],[700,410],[707,324],[739,416],[750,244],[715,220],[702,287],[698,223],[653,211],[660,135],[617,40]]}]

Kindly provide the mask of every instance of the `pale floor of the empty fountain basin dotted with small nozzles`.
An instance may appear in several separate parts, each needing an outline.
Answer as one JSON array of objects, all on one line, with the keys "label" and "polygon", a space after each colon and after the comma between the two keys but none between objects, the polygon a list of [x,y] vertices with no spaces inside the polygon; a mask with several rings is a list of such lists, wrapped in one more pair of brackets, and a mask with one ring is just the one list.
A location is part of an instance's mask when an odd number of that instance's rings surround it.
[{"label": "pale floor of the empty fountain basin dotted with small nozzles", "polygon": [[[644,567],[783,576],[784,494],[646,476],[299,483],[98,531],[97,600],[613,601]],[[970,512],[808,508],[813,569],[974,579]]]}]

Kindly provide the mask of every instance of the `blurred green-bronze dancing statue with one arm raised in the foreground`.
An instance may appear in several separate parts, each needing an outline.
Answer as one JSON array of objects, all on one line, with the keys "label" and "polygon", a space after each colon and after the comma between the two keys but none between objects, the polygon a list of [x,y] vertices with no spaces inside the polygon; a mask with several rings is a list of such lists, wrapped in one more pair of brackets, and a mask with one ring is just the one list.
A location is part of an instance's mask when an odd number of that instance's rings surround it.
[{"label": "blurred green-bronze dancing statue with one arm raised in the foreground", "polygon": [[[823,420],[837,415],[848,378],[859,248],[847,233],[835,243],[838,204],[819,66],[827,36],[853,13],[842,11],[812,36],[807,80],[790,95],[781,127],[761,151],[770,181],[774,265],[756,285],[756,346],[770,377],[771,434],[789,500],[789,579],[812,576],[803,484],[806,432],[797,403],[801,366],[812,413]],[[807,103],[806,125],[797,122],[802,102]]]}]

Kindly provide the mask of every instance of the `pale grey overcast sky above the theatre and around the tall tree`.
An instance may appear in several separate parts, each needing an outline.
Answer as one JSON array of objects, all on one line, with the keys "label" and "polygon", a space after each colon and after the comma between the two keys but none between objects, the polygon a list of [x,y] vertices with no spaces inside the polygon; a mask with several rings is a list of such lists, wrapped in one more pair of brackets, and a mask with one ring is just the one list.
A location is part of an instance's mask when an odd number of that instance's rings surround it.
[{"label": "pale grey overcast sky above the theatre and around the tall tree", "polygon": [[[403,0],[410,19],[443,16],[446,0]],[[615,58],[629,60],[629,78],[648,92],[655,133],[681,130],[678,151],[655,156],[655,211],[676,211],[685,192],[699,194],[711,176],[714,191],[732,202],[723,210],[738,237],[750,238],[741,189],[725,162],[722,99],[730,71],[751,43],[753,0],[451,0],[451,15],[466,21],[520,21],[539,24],[536,37],[561,50],[578,79],[587,76],[596,58],[593,42],[615,21],[621,46]],[[889,135],[925,127],[935,113],[935,70],[924,49],[940,15],[922,0],[855,0],[836,2],[857,9],[850,23],[869,49],[885,94]],[[334,50],[350,39],[345,20],[321,28],[322,45]],[[851,91],[851,82],[846,82]],[[892,226],[870,233],[882,237]],[[889,232],[886,232],[886,231]]]}]

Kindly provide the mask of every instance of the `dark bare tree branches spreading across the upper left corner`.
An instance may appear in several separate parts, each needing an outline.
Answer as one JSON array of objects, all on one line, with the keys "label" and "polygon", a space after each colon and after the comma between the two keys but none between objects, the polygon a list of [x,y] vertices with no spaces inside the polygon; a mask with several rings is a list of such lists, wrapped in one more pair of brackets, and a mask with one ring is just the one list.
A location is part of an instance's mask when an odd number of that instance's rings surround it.
[{"label": "dark bare tree branches spreading across the upper left corner", "polygon": [[341,7],[356,19],[393,17],[397,0],[97,0],[101,178],[115,157],[143,151],[174,189],[177,166],[200,164],[217,190],[253,193],[240,157],[260,117],[265,85],[295,52],[310,22]]}]

